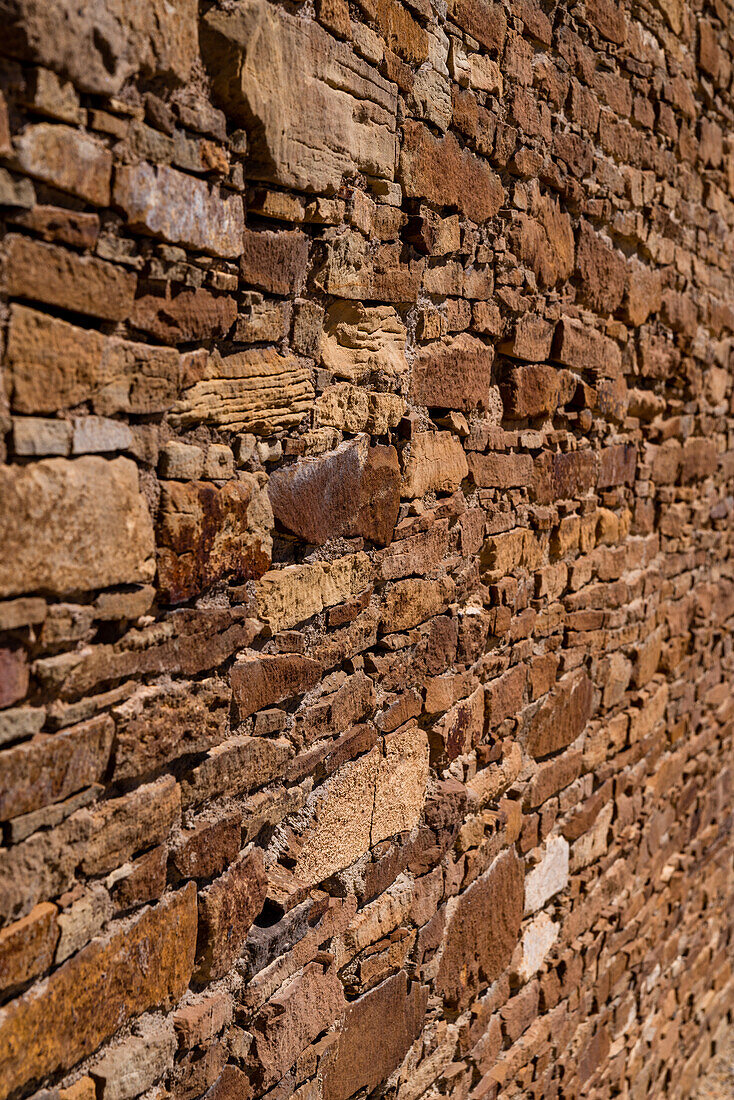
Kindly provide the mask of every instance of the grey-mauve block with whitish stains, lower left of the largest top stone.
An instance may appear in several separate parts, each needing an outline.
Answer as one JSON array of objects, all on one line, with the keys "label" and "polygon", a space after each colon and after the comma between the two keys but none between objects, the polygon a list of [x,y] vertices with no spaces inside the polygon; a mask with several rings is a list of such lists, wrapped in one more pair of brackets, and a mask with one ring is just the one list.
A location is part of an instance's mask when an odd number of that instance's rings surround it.
[{"label": "grey-mauve block with whitish stains, lower left of the largest top stone", "polygon": [[114,176],[114,205],[133,229],[215,256],[239,256],[244,208],[202,179],[165,165],[123,165]]}]

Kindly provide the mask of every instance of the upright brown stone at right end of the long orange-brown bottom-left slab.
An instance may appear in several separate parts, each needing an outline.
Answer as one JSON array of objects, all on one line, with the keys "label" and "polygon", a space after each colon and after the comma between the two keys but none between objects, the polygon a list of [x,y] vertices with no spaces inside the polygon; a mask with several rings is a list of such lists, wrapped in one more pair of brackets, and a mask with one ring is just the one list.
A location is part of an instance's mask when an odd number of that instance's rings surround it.
[{"label": "upright brown stone at right end of the long orange-brown bottom-left slab", "polygon": [[223,978],[237,963],[252,922],[265,901],[262,851],[241,856],[199,894],[198,981]]}]

